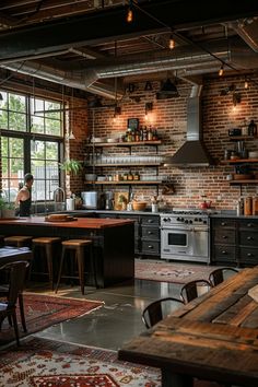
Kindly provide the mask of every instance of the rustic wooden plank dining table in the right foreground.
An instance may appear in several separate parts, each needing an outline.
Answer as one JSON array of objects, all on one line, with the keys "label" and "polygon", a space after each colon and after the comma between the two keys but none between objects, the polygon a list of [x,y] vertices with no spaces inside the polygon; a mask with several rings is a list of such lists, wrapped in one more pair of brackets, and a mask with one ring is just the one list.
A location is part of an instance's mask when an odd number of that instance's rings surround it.
[{"label": "rustic wooden plank dining table in the right foreground", "polygon": [[195,377],[257,387],[258,302],[248,295],[257,284],[258,266],[241,270],[125,343],[118,359],[161,368],[163,387]]}]

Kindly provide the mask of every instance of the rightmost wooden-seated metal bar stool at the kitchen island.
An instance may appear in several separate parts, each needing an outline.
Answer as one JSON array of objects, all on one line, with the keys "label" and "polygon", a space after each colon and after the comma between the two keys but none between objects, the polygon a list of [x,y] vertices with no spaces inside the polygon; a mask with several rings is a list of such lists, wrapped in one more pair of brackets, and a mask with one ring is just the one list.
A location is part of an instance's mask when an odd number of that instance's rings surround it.
[{"label": "rightmost wooden-seated metal bar stool at the kitchen island", "polygon": [[[89,247],[91,268],[92,268],[92,271],[94,274],[95,286],[97,288],[95,261],[94,261],[94,257],[93,257],[92,246],[93,246],[93,244],[92,244],[91,239],[69,239],[69,241],[62,242],[62,254],[61,254],[61,261],[60,261],[60,268],[59,268],[58,280],[57,280],[56,293],[58,291],[61,277],[66,277],[66,278],[77,278],[77,279],[79,278],[81,292],[82,292],[82,294],[84,294],[85,247]],[[63,267],[64,257],[67,257],[67,253],[69,250],[74,251],[73,256],[74,256],[77,263],[78,263],[79,277],[62,275],[62,267]]]}]

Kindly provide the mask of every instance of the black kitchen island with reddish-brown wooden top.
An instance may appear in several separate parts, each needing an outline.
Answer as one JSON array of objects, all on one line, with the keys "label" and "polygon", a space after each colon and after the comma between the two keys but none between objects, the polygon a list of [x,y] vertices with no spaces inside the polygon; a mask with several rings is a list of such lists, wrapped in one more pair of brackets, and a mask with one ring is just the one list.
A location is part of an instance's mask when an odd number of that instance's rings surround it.
[{"label": "black kitchen island with reddish-brown wooden top", "polygon": [[[99,288],[110,286],[134,277],[133,230],[131,220],[79,218],[69,222],[49,222],[44,216],[0,219],[0,234],[4,236],[91,238]],[[58,261],[60,257],[57,257]],[[94,283],[91,272],[85,282]]]}]

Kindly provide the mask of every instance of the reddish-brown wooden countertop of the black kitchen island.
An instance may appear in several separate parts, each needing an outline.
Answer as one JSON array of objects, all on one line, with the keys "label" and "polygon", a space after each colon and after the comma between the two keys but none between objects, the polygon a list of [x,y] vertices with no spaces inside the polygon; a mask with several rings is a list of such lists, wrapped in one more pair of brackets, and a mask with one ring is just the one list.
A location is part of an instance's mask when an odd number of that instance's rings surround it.
[{"label": "reddish-brown wooden countertop of the black kitchen island", "polygon": [[99,230],[107,227],[117,227],[119,225],[133,223],[129,219],[96,219],[96,218],[78,218],[71,221],[46,221],[45,216],[32,216],[32,218],[15,218],[15,219],[0,219],[0,225],[33,225],[33,226],[56,226],[56,227],[69,227],[69,228],[91,228]]}]

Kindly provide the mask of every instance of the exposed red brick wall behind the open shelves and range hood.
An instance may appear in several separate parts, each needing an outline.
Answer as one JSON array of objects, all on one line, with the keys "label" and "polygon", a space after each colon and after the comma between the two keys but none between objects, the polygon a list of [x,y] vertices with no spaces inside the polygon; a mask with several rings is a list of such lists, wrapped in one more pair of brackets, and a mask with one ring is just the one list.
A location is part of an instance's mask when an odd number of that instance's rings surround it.
[{"label": "exposed red brick wall behind the open shelves and range hood", "polygon": [[[256,80],[258,82],[258,80]],[[237,92],[242,95],[242,103],[233,110],[233,95],[220,95],[221,90],[235,84]],[[157,83],[153,82],[153,86],[159,87]],[[157,129],[163,144],[159,146],[161,154],[171,154],[184,143],[186,138],[186,103],[190,95],[191,85],[188,83],[179,83],[178,90],[180,96],[173,99],[156,101],[153,92],[144,92],[144,84],[138,85],[138,94],[140,102],[130,99],[130,95],[122,98],[121,116],[116,122],[113,121],[114,107],[75,110],[74,114],[74,134],[77,140],[70,141],[71,156],[79,159],[83,157],[85,149],[82,142],[85,141],[90,132],[93,131],[95,137],[119,137],[125,133],[127,129],[127,119],[136,117],[140,119],[140,125],[145,125],[144,121],[144,106],[145,102],[153,102],[153,112],[151,113],[150,122]],[[137,93],[133,93],[136,96]],[[207,79],[203,82],[202,90],[202,121],[203,121],[203,140],[210,154],[215,160],[223,159],[225,149],[233,149],[234,143],[228,139],[228,129],[238,128],[243,125],[247,126],[250,119],[258,124],[258,90],[256,84],[249,83],[248,90],[244,89],[244,78],[231,77],[222,79]],[[105,103],[105,101],[103,101]],[[106,101],[106,104],[110,104]],[[89,117],[87,117],[89,114]],[[89,119],[89,122],[87,122]],[[258,150],[258,140],[246,141],[248,150]],[[120,150],[118,148],[108,148],[104,150],[105,153],[115,154],[126,152],[128,150]],[[154,154],[154,148],[133,148],[133,153],[138,154]],[[204,195],[212,201],[216,209],[235,209],[237,199],[241,195],[256,195],[257,185],[242,185],[230,186],[226,180],[226,175],[234,172],[232,166],[215,165],[210,167],[198,168],[175,168],[172,166],[161,166],[159,168],[161,175],[167,175],[173,181],[175,192],[172,195],[161,195],[162,187],[160,187],[160,196],[168,206],[173,207],[198,207]],[[104,175],[115,173],[126,173],[129,168],[106,168],[97,169]],[[137,171],[132,169],[132,171]],[[140,174],[155,173],[153,168],[139,168]],[[90,171],[89,171],[90,172]],[[79,178],[72,181],[72,190],[92,189],[86,186]],[[127,190],[122,186],[107,186],[107,190]],[[143,196],[145,199],[156,194],[156,187],[136,186],[133,194]]]}]

